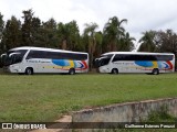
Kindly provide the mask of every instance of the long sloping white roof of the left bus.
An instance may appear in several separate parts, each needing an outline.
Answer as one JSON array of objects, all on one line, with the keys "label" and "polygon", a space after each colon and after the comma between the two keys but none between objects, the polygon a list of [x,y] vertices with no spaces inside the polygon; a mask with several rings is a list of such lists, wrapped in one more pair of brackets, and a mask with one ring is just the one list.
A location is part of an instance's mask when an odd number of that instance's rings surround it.
[{"label": "long sloping white roof of the left bus", "polygon": [[84,53],[84,52],[73,52],[73,51],[56,50],[56,48],[34,47],[34,46],[14,47],[14,48],[11,48],[10,51],[18,51],[18,50],[37,50],[37,51],[48,51],[48,52],[63,52],[63,53],[81,53],[81,54],[87,54],[87,53]]}]

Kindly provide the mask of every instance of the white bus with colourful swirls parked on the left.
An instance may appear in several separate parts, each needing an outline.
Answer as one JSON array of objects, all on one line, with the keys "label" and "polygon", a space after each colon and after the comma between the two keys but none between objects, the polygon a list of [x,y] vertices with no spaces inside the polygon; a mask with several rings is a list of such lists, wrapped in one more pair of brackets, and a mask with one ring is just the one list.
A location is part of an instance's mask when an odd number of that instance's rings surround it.
[{"label": "white bus with colourful swirls parked on the left", "polygon": [[88,54],[44,47],[17,47],[1,55],[3,67],[10,73],[32,75],[34,73],[88,72]]}]

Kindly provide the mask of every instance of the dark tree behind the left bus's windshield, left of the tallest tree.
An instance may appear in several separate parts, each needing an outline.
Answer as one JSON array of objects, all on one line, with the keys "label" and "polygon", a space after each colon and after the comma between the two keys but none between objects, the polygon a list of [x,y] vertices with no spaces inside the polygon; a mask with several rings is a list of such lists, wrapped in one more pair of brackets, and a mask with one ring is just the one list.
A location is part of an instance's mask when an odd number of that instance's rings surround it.
[{"label": "dark tree behind the left bus's windshield, left of the tallest tree", "polygon": [[7,21],[6,29],[3,31],[2,44],[4,51],[20,46],[21,38],[21,22],[12,15],[11,20]]}]

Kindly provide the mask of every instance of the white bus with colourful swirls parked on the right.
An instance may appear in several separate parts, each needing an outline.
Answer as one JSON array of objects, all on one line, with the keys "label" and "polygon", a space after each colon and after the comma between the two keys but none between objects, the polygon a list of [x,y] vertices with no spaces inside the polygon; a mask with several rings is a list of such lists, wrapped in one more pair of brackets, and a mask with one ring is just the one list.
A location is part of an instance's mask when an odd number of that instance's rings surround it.
[{"label": "white bus with colourful swirls parked on the right", "polygon": [[100,73],[159,73],[175,72],[175,55],[171,53],[110,52],[96,58]]}]

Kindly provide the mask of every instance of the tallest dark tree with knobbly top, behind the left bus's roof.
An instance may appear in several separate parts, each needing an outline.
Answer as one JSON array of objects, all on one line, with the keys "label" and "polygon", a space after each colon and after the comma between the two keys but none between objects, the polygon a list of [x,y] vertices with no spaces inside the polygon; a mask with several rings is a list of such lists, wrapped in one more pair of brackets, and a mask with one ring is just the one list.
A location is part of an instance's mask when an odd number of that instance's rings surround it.
[{"label": "tallest dark tree with knobbly top, behind the left bus's roof", "polygon": [[[22,24],[22,41],[25,46],[49,46],[46,41],[46,23],[41,23],[39,18],[33,16],[33,11],[23,11],[24,23]],[[49,30],[48,30],[49,31]],[[49,34],[49,33],[48,33]],[[45,38],[46,37],[46,38]]]}]

